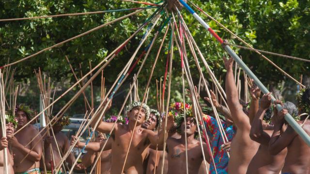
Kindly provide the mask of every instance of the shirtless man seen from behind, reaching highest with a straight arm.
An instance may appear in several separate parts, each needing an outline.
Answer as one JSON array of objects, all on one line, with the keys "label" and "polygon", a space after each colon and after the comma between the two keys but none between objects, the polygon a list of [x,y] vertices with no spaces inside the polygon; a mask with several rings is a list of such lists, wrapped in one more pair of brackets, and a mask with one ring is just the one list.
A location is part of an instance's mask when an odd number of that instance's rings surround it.
[{"label": "shirtless man seen from behind, reaching highest with a straight arm", "polygon": [[239,102],[237,87],[233,77],[233,58],[223,58],[226,73],[226,95],[227,104],[231,111],[233,122],[237,127],[237,132],[231,144],[230,159],[228,162],[229,174],[246,174],[248,164],[255,155],[259,144],[250,139],[251,129],[249,117],[244,113]]}]

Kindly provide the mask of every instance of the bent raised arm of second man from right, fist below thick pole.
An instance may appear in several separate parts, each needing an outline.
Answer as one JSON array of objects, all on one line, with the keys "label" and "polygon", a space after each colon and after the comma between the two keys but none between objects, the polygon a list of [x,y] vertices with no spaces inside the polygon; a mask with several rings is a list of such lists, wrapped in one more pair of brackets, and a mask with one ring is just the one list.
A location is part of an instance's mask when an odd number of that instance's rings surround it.
[{"label": "bent raised arm of second man from right, fist below thick pole", "polygon": [[259,106],[258,112],[256,113],[250,131],[250,138],[260,144],[268,146],[270,136],[268,133],[263,131],[263,116],[267,109],[271,105],[271,93],[264,94]]}]

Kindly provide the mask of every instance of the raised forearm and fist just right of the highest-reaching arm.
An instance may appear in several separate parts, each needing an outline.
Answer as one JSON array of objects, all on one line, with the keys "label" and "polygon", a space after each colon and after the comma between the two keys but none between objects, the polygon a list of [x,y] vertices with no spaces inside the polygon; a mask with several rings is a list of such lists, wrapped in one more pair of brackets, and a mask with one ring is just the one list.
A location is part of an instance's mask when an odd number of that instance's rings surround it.
[{"label": "raised forearm and fist just right of the highest-reaching arm", "polygon": [[251,94],[251,104],[248,111],[248,117],[250,119],[250,124],[252,124],[254,116],[256,115],[259,108],[259,100],[261,95],[261,89],[258,88],[254,83],[250,88]]}]

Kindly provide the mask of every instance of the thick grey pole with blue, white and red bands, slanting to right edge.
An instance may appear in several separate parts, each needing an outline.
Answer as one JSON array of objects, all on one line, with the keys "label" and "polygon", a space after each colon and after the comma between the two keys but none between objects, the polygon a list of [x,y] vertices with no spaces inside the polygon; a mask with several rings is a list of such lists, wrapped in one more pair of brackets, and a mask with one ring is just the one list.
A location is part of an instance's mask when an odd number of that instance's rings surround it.
[{"label": "thick grey pole with blue, white and red bands, slanting to right edge", "polygon": [[[202,18],[195,13],[193,9],[191,9],[183,0],[179,0],[182,5],[191,13],[193,16],[202,24],[202,26],[214,36],[216,37],[217,34],[202,20]],[[210,29],[209,29],[210,28]],[[212,32],[213,31],[213,32]],[[214,35],[215,34],[215,35]],[[218,37],[218,36],[217,36]],[[216,37],[216,38],[217,38]],[[220,38],[219,38],[220,39]],[[223,43],[223,41],[220,39],[217,41],[219,43]],[[255,74],[248,68],[248,66],[241,60],[241,58],[238,57],[238,55],[232,50],[231,47],[228,45],[224,45],[224,49],[227,51],[227,53],[238,63],[238,65],[246,72],[246,74],[254,80],[254,83],[262,90],[264,94],[267,94],[269,91],[268,89],[263,85],[263,83],[255,76]],[[271,102],[275,102],[275,98],[271,98]],[[282,106],[277,104],[277,110],[282,110]],[[310,136],[304,131],[298,123],[294,120],[294,118],[290,114],[286,114],[284,116],[285,120],[292,126],[292,128],[298,133],[299,136],[307,143],[308,146],[310,146]]]}]

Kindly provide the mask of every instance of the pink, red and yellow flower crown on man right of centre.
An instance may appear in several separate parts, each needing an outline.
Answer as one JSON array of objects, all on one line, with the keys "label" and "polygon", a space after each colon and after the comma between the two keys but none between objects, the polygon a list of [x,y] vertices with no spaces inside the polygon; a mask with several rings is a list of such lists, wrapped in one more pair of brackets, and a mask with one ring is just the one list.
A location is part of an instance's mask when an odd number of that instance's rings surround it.
[{"label": "pink, red and yellow flower crown on man right of centre", "polygon": [[168,116],[173,116],[176,128],[179,128],[184,121],[184,109],[186,116],[193,116],[192,106],[187,103],[184,107],[183,102],[174,102],[169,107]]}]

